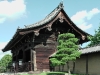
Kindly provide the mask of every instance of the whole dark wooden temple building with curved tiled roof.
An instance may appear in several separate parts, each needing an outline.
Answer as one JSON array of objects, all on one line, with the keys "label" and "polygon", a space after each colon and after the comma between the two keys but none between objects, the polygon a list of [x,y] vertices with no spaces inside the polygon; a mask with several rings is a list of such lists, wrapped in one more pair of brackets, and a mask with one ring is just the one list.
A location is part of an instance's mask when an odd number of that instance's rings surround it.
[{"label": "whole dark wooden temple building with curved tiled roof", "polygon": [[89,34],[71,21],[61,2],[43,20],[18,28],[2,51],[11,50],[16,71],[49,71],[49,57],[57,50],[57,37],[68,32],[75,34],[79,44],[89,41]]}]

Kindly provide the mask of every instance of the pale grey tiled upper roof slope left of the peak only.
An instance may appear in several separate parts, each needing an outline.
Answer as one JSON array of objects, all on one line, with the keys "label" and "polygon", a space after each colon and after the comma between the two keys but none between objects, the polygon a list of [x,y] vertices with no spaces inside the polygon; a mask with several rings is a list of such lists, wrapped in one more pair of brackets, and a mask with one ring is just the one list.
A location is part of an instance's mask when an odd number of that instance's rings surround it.
[{"label": "pale grey tiled upper roof slope left of the peak only", "polygon": [[21,29],[27,29],[27,28],[33,28],[33,27],[37,27],[37,26],[41,26],[44,25],[45,23],[48,23],[49,21],[51,21],[59,12],[61,9],[63,9],[63,3],[61,2],[49,15],[47,15],[43,20],[31,24],[31,25],[25,25],[25,28],[21,28]]}]

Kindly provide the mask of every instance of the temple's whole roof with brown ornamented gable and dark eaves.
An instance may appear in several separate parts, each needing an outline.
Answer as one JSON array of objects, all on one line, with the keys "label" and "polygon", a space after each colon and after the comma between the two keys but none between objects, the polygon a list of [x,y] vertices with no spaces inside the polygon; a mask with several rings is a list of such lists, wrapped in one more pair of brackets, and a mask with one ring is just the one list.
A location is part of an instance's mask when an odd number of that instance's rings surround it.
[{"label": "temple's whole roof with brown ornamented gable and dark eaves", "polygon": [[[58,31],[60,33],[66,33],[70,29],[71,32],[74,32],[74,34],[76,34],[76,36],[80,38],[80,41],[81,41],[80,44],[89,41],[87,39],[87,36],[90,34],[84,32],[80,28],[78,28],[68,17],[68,15],[64,11],[63,7],[64,7],[63,3],[61,2],[43,20],[41,20],[35,24],[25,25],[24,28],[18,27],[13,38],[10,40],[10,42],[5,46],[5,48],[2,51],[10,50],[21,39],[23,39],[26,35],[28,35],[32,32],[36,36],[38,36],[39,32],[43,29],[44,30],[47,29],[48,31],[51,31],[51,32]],[[57,30],[57,27],[59,27],[58,30]],[[60,27],[63,27],[65,31],[63,29],[61,29]]]}]

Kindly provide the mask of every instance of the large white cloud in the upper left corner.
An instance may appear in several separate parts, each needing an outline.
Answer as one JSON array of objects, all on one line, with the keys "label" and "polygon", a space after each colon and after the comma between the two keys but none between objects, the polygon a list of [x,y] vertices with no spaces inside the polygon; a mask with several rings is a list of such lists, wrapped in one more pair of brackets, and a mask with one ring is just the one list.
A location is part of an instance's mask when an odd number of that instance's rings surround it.
[{"label": "large white cloud in the upper left corner", "polygon": [[0,23],[6,19],[17,19],[25,16],[26,5],[24,0],[0,1]]}]

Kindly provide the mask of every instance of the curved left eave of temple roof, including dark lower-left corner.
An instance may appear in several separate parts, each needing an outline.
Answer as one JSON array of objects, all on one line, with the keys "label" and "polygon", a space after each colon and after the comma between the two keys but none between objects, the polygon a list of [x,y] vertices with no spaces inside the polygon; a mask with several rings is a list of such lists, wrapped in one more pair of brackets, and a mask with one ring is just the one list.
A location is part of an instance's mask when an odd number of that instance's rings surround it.
[{"label": "curved left eave of temple roof, including dark lower-left corner", "polygon": [[4,49],[2,49],[3,52],[8,51],[11,49],[11,46],[14,44],[14,42],[21,37],[21,35],[19,34],[19,32],[21,31],[27,31],[27,30],[31,30],[31,29],[35,29],[41,26],[44,26],[46,24],[48,24],[49,22],[51,22],[60,12],[60,10],[63,9],[63,3],[61,2],[49,15],[47,15],[43,20],[32,24],[32,25],[27,25],[25,26],[25,28],[19,28],[16,33],[14,34],[13,38],[8,42],[8,44],[5,46]]}]

